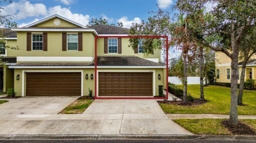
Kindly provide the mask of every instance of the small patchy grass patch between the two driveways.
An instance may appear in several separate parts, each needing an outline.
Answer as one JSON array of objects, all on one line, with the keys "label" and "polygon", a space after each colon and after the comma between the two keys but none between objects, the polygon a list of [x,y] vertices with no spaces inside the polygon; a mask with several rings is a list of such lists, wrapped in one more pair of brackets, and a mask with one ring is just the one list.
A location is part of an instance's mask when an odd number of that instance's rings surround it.
[{"label": "small patchy grass patch between the two driveways", "polygon": [[59,112],[59,114],[82,114],[92,102],[93,100],[91,99],[77,99]]}]

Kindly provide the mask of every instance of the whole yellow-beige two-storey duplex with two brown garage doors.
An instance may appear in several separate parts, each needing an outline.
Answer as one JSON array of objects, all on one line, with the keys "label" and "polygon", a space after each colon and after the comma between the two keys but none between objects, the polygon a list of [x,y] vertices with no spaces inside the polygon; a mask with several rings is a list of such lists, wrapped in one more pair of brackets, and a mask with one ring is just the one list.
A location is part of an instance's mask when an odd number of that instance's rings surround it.
[{"label": "whole yellow-beige two-storey duplex with two brown garage doors", "polygon": [[[2,90],[14,87],[17,96],[157,96],[165,86],[161,49],[143,54],[141,46],[128,47],[127,28],[83,26],[52,15],[22,28],[4,29],[6,44],[18,50],[0,50]],[[95,36],[97,73],[94,75]],[[4,51],[4,52],[3,52]],[[96,84],[95,83],[96,80]]]}]

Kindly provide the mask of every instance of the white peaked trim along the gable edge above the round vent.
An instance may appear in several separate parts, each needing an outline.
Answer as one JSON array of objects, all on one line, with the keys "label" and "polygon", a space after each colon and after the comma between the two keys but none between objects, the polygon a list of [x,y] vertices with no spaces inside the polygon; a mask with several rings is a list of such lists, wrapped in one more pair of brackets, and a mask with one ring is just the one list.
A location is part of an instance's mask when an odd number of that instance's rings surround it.
[{"label": "white peaked trim along the gable edge above the round vent", "polygon": [[84,25],[82,25],[82,24],[79,24],[79,23],[77,23],[77,22],[74,22],[74,21],[72,21],[72,20],[70,20],[70,19],[67,19],[67,18],[65,18],[65,17],[63,17],[63,16],[60,16],[60,15],[58,15],[58,14],[50,15],[50,16],[45,17],[45,18],[43,18],[43,19],[40,19],[40,20],[38,20],[38,21],[36,21],[36,22],[33,22],[33,23],[31,23],[31,24],[28,24],[28,25],[26,25],[26,26],[24,26],[24,27],[31,27],[31,26],[33,26],[33,25],[40,24],[40,23],[42,23],[42,22],[44,22],[44,21],[47,21],[47,20],[50,20],[50,19],[53,19],[53,18],[56,18],[56,17],[57,17],[57,18],[60,18],[60,19],[62,19],[62,20],[68,21],[68,22],[70,22],[70,23],[72,23],[72,24],[74,24],[74,25],[77,25],[77,26],[79,26],[79,27],[87,28],[86,26],[84,26]]}]

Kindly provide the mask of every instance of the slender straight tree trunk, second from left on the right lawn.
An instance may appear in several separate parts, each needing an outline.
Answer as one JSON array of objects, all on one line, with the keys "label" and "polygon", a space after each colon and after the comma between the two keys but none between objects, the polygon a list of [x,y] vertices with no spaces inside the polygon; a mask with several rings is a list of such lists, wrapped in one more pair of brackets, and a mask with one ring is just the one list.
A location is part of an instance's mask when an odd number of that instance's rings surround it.
[{"label": "slender straight tree trunk, second from left on the right lawn", "polygon": [[200,100],[204,100],[204,95],[203,95],[203,47],[199,48],[199,71],[200,71]]}]

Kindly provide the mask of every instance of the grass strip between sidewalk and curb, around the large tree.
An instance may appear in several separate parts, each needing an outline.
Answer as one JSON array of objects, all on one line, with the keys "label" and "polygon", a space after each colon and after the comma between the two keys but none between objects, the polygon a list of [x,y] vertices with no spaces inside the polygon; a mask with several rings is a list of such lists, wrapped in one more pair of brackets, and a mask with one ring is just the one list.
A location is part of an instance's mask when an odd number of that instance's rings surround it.
[{"label": "grass strip between sidewalk and curb, around the large tree", "polygon": [[[173,121],[196,135],[232,135],[232,133],[221,124],[223,119],[179,119]],[[256,131],[256,120],[240,121]]]}]

